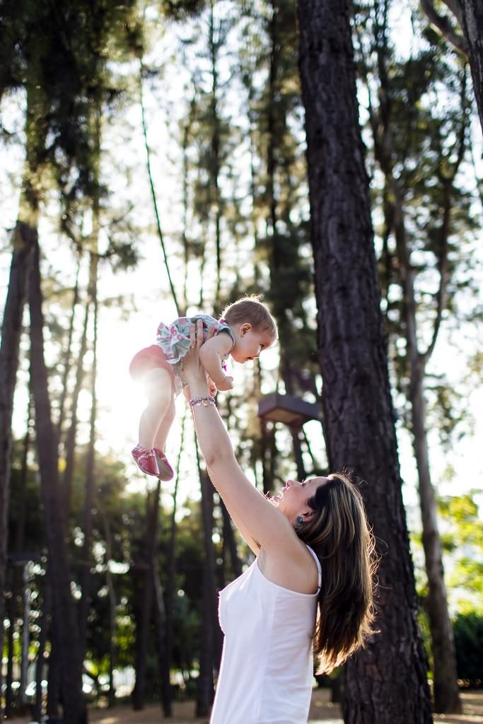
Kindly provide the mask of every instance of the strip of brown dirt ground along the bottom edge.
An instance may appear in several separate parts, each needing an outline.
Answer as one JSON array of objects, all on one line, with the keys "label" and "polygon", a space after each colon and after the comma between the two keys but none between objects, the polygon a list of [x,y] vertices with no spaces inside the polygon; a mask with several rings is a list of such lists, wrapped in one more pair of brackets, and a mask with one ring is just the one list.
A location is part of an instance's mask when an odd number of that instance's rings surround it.
[{"label": "strip of brown dirt ground along the bottom edge", "polygon": [[[483,724],[483,691],[463,691],[463,714],[434,715],[434,722],[441,724]],[[312,696],[309,722],[311,724],[343,724],[340,707],[330,702],[328,689],[315,689]],[[89,722],[96,724],[208,724],[208,719],[196,719],[194,702],[175,702],[174,716],[165,719],[157,706],[146,707],[142,712],[133,712],[130,707],[119,704],[112,710],[91,710]],[[29,719],[18,718],[12,724],[30,724]]]}]

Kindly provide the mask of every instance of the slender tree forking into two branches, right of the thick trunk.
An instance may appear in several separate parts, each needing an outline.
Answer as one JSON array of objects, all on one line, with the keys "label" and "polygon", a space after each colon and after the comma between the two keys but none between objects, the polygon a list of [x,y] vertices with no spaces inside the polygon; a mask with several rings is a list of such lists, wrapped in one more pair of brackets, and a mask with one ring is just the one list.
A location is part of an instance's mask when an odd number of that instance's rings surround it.
[{"label": "slender tree forking into two branches, right of the thick trunk", "polygon": [[[463,159],[465,148],[465,124],[461,124],[460,138],[457,140],[458,153],[455,162],[445,164],[445,174],[441,174],[443,186],[442,224],[440,228],[440,287],[437,294],[437,311],[434,317],[432,341],[426,352],[420,353],[418,348],[416,294],[414,289],[414,273],[411,264],[411,250],[406,230],[406,214],[404,196],[398,180],[393,174],[396,154],[393,148],[390,127],[390,93],[387,88],[387,69],[385,54],[379,49],[379,76],[385,88],[382,98],[385,106],[380,111],[379,120],[371,111],[371,125],[374,132],[374,149],[377,161],[386,178],[385,221],[387,232],[393,231],[398,255],[399,283],[403,290],[404,332],[406,334],[406,358],[408,361],[409,392],[411,405],[411,432],[413,449],[418,471],[419,500],[421,506],[421,522],[423,527],[424,561],[428,579],[429,631],[433,653],[434,710],[441,713],[461,712],[459,697],[453,627],[448,613],[448,597],[442,566],[442,547],[437,528],[437,502],[432,487],[429,468],[429,449],[426,432],[426,400],[424,397],[425,367],[434,346],[436,345],[442,311],[445,308],[447,276],[448,276],[448,235],[450,234],[450,216],[453,204],[453,181]],[[463,76],[462,101],[464,102],[466,83]],[[381,131],[382,129],[382,131]],[[380,136],[384,138],[381,142]]]}]

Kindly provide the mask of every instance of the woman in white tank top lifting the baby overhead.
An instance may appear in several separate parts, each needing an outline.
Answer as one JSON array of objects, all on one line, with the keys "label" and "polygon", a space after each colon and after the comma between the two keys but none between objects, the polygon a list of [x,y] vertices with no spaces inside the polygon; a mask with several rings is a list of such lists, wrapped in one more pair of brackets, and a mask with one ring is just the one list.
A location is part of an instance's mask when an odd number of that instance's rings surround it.
[{"label": "woman in white tank top lifting the baby overhead", "polygon": [[313,657],[329,673],[371,633],[374,544],[358,489],[335,474],[262,495],[235,459],[199,362],[183,361],[209,476],[256,555],[219,596],[222,665],[211,724],[307,721]]}]

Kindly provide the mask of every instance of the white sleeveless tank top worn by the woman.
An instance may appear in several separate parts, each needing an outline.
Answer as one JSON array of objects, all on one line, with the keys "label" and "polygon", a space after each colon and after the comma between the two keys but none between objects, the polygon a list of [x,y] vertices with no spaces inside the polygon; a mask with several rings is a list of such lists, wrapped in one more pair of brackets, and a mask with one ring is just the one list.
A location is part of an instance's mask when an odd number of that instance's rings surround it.
[{"label": "white sleeveless tank top worn by the woman", "polygon": [[[307,546],[308,547],[308,546]],[[210,724],[303,724],[312,683],[317,594],[283,588],[254,560],[219,594],[222,664]]]}]

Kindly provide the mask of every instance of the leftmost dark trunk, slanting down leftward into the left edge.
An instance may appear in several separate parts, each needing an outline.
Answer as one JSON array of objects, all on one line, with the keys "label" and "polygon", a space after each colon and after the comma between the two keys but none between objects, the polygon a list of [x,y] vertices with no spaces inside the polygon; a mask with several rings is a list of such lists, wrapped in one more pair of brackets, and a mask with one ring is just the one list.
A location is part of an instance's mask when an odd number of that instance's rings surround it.
[{"label": "leftmost dark trunk, slanting down leftward into the left edge", "polygon": [[[7,572],[7,531],[9,519],[10,470],[12,466],[12,410],[19,361],[22,315],[28,295],[37,229],[18,221],[13,235],[9,287],[1,326],[0,343],[0,621],[4,620],[3,592]],[[0,626],[0,651],[3,651]],[[1,683],[1,673],[0,673]]]}]

